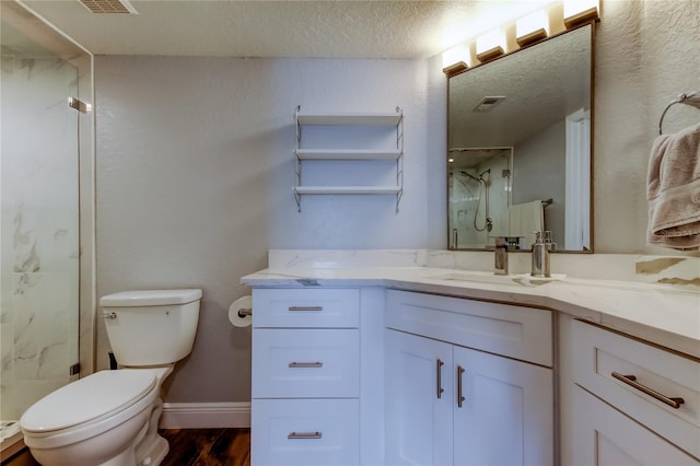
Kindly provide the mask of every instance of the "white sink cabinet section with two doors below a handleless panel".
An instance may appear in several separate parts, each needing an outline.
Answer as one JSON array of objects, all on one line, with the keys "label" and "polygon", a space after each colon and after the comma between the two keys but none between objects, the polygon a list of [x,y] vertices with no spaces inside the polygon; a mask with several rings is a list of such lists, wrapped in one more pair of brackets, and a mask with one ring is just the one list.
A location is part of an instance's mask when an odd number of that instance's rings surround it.
[{"label": "white sink cabinet section with two doors below a handleless panel", "polygon": [[551,319],[388,290],[386,464],[553,464]]}]

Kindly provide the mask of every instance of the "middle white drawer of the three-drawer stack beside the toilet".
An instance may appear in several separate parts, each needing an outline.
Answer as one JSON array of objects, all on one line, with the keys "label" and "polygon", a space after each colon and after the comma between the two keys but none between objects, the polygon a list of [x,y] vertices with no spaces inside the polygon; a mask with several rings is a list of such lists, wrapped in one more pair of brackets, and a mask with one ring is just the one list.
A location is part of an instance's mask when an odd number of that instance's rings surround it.
[{"label": "middle white drawer of the three-drawer stack beside the toilet", "polygon": [[357,329],[255,329],[255,398],[351,398],[359,394]]}]

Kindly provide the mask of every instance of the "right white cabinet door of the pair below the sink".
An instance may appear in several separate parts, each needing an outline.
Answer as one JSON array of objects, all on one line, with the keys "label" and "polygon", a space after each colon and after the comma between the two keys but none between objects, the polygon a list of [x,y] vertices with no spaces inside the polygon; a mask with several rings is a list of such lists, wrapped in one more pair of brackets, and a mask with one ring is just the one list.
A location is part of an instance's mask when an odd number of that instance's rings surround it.
[{"label": "right white cabinet door of the pair below the sink", "polygon": [[454,368],[455,465],[553,464],[551,370],[460,347]]}]

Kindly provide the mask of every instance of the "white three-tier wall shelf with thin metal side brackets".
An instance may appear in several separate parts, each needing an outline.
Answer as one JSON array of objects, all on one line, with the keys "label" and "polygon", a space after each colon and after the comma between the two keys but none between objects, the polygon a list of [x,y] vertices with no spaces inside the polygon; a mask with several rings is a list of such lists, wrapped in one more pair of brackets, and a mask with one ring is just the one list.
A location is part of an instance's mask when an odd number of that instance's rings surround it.
[{"label": "white three-tier wall shelf with thin metal side brackets", "polygon": [[[294,199],[301,212],[301,197],[304,195],[394,195],[396,196],[396,210],[404,193],[404,113],[396,107],[395,113],[353,113],[353,114],[304,114],[301,106],[295,113],[296,149],[294,151],[295,185]],[[348,148],[341,147],[347,141],[334,141],[332,148],[302,148],[302,128],[304,126],[334,126],[334,127],[386,127],[395,131],[396,144],[392,148]],[[335,142],[338,142],[337,145]],[[357,142],[357,141],[355,141]],[[314,161],[396,161],[396,184],[393,185],[323,185],[304,184],[302,182],[302,167],[304,162]],[[384,166],[385,167],[385,166]],[[373,168],[368,168],[372,171]],[[381,168],[380,168],[381,170]],[[312,180],[313,183],[313,180]]]}]

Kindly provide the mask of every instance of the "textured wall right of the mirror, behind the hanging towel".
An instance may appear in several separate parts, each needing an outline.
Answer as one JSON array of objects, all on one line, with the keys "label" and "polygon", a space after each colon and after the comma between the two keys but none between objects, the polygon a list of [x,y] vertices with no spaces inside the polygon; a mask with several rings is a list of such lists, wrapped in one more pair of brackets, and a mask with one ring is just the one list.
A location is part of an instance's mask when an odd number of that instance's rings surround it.
[{"label": "textured wall right of the mirror, behind the hanging towel", "polygon": [[[595,47],[594,247],[668,254],[645,244],[646,164],[666,104],[700,90],[700,2],[604,0],[602,15]],[[675,105],[664,130],[698,121],[698,109]]]}]

